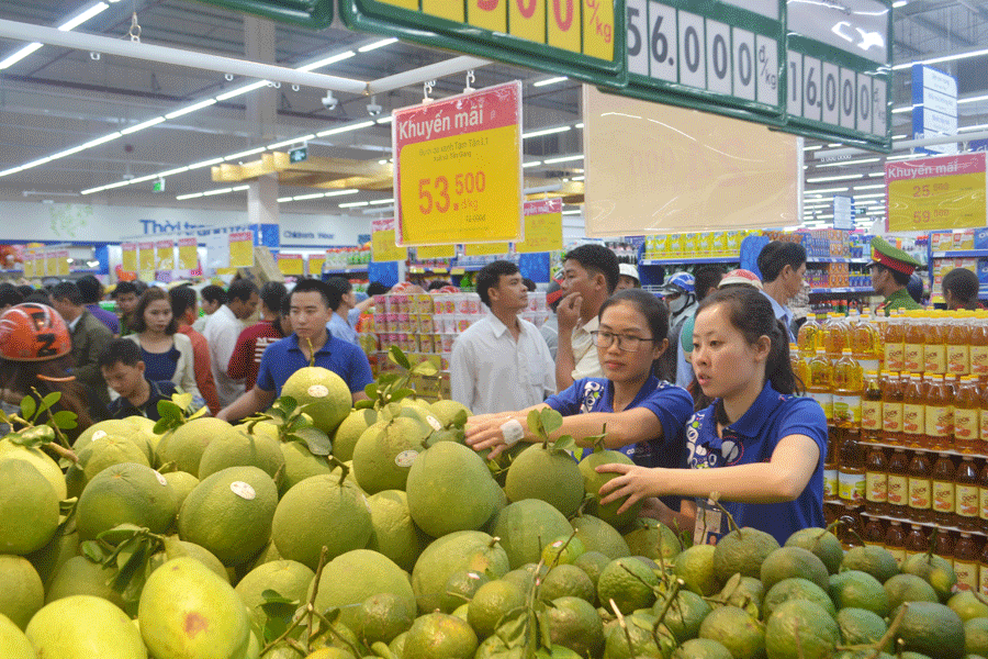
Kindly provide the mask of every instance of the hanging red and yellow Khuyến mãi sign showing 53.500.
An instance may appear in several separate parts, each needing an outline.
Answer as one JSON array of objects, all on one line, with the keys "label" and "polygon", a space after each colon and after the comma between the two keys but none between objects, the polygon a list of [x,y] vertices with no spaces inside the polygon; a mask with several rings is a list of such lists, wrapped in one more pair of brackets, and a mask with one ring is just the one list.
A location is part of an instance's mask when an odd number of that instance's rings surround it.
[{"label": "hanging red and yellow Khuy\u1ebfn m\u00e3i sign showing 53.500", "polygon": [[521,83],[394,112],[397,243],[517,241],[521,235]]}]

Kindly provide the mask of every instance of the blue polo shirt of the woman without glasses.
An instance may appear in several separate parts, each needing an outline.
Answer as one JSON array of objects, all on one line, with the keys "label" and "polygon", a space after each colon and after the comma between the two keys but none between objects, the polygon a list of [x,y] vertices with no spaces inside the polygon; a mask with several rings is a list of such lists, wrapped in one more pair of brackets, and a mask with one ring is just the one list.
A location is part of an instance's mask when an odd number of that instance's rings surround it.
[{"label": "blue polo shirt of the woman without glasses", "polygon": [[[717,436],[716,405],[717,401],[694,414],[686,427],[686,449],[692,469],[767,462],[779,439],[789,435],[806,435],[820,449],[809,483],[794,501],[736,503],[721,500],[720,504],[731,513],[738,526],[764,530],[774,536],[779,545],[785,545],[786,539],[800,528],[826,526],[823,458],[827,455],[827,418],[819,403],[809,398],[778,393],[766,382],[748,412],[723,428],[722,438]],[[717,509],[705,499],[697,500],[697,509],[698,530],[694,541],[716,544],[729,530],[727,517],[720,518]]]}]

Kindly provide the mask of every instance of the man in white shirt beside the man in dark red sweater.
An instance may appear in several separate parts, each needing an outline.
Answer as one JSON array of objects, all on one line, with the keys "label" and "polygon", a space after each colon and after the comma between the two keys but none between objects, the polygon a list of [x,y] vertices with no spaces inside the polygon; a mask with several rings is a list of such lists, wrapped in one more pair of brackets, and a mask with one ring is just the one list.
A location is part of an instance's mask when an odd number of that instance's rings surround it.
[{"label": "man in white shirt beside the man in dark red sweater", "polygon": [[210,316],[202,335],[210,344],[210,368],[216,382],[216,398],[220,406],[226,407],[244,393],[244,380],[234,380],[226,375],[229,358],[237,345],[237,337],[244,331],[244,321],[254,315],[260,294],[257,284],[247,279],[237,279],[226,291],[227,302]]}]

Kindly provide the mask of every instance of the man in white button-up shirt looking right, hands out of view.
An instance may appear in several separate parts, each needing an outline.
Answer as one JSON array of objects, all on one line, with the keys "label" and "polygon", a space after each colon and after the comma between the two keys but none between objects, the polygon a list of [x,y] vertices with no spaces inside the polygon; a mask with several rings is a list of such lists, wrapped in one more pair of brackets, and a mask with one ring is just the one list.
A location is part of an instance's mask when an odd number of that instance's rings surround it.
[{"label": "man in white button-up shirt looking right, hands out of view", "polygon": [[510,261],[484,266],[476,290],[491,314],[471,325],[453,344],[452,399],[473,414],[524,410],[555,392],[552,357],[538,327],[518,317],[528,306],[528,289]]}]

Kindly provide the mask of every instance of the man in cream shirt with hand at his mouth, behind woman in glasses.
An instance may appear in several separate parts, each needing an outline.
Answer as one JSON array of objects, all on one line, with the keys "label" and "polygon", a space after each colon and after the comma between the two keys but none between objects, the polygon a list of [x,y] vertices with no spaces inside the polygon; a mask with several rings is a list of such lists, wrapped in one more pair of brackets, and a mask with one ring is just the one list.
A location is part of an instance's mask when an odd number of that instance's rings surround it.
[{"label": "man in cream shirt with hand at his mouth, behind woman in glasses", "polygon": [[603,245],[581,245],[563,257],[565,297],[555,310],[559,319],[558,391],[581,378],[604,377],[591,332],[597,328],[597,314],[617,288],[618,276],[617,257]]}]

